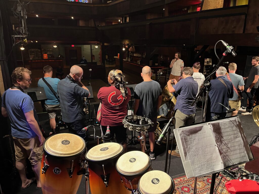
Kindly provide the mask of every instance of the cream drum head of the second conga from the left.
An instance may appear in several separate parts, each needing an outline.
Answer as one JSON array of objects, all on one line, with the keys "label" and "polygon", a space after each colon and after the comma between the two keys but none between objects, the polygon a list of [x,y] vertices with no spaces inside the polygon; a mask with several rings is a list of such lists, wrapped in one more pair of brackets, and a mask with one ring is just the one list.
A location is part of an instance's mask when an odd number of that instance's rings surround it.
[{"label": "cream drum head of the second conga from the left", "polygon": [[123,146],[118,143],[104,143],[92,147],[86,154],[88,161],[102,161],[118,156],[124,151]]}]

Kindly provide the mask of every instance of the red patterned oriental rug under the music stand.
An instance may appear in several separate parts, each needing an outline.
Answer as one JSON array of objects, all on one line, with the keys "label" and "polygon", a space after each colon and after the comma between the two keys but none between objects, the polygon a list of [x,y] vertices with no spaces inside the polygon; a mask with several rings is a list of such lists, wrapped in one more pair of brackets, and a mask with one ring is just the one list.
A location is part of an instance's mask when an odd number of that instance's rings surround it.
[{"label": "red patterned oriental rug under the music stand", "polygon": [[[221,176],[216,178],[215,187],[218,185]],[[223,177],[221,183],[219,184],[219,188],[217,190],[217,194],[229,194],[225,183],[230,181],[229,177]],[[182,176],[179,178],[174,178],[175,182],[175,190],[176,194],[187,194],[193,193],[195,178],[186,178],[186,176]],[[197,178],[197,194],[208,194],[210,193],[211,186],[211,177],[198,177]]]}]

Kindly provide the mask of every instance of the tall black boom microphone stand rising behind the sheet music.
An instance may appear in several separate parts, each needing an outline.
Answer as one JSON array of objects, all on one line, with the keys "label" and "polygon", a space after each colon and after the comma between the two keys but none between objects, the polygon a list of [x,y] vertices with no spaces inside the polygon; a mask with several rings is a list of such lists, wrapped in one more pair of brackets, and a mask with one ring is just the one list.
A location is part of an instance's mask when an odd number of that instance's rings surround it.
[{"label": "tall black boom microphone stand rising behind the sheet music", "polygon": [[210,85],[210,81],[209,80],[213,76],[213,74],[219,69],[219,65],[223,61],[225,56],[227,56],[227,53],[228,52],[225,50],[225,52],[222,54],[222,57],[219,60],[218,64],[215,65],[214,70],[212,71],[212,73],[210,75],[208,75],[208,77],[206,77],[206,79],[204,80],[202,89],[200,89],[200,92],[198,93],[196,98],[191,103],[191,106],[193,106],[197,102],[200,94],[204,91],[204,89],[206,89],[205,106],[204,106],[204,113],[203,113],[203,116],[202,116],[202,122],[205,121],[205,115],[206,115],[206,109],[207,109],[207,103],[208,103],[208,93],[209,93],[209,91],[207,91],[207,89],[208,89],[207,87]]}]

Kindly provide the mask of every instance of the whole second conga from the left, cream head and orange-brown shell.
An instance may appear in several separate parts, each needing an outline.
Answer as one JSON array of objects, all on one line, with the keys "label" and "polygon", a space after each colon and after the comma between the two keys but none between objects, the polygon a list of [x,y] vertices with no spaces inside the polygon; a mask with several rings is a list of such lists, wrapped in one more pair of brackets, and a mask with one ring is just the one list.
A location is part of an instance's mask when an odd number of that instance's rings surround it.
[{"label": "whole second conga from the left, cream head and orange-brown shell", "polygon": [[123,153],[124,148],[121,144],[104,143],[91,148],[85,154],[92,194],[131,193],[121,184],[115,168],[116,161]]}]

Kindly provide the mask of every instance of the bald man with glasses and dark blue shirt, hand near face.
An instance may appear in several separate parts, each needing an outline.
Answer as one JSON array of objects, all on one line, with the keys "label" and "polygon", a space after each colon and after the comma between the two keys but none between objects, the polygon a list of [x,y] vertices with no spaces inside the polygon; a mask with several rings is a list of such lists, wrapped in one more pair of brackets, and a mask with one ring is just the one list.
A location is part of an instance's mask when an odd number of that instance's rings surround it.
[{"label": "bald man with glasses and dark blue shirt, hand near face", "polygon": [[90,92],[81,82],[83,69],[73,65],[70,73],[65,79],[57,84],[57,94],[59,96],[62,120],[67,124],[71,133],[88,140],[88,132],[82,132],[87,125],[83,113],[82,97],[89,97]]}]

